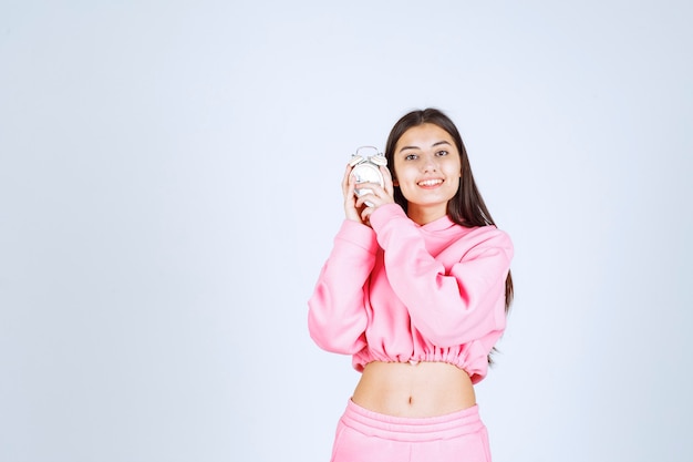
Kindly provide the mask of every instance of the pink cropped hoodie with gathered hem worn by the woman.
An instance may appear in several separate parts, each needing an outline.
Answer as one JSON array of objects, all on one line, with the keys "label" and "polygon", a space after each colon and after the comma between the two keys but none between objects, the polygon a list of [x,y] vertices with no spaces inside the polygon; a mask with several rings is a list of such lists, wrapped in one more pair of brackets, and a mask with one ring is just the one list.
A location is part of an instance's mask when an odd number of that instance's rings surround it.
[{"label": "pink cropped hoodie with gathered hem worn by the woman", "polygon": [[371,361],[443,361],[473,383],[506,325],[513,243],[495,226],[445,216],[420,226],[389,204],[371,227],[344,220],[310,300],[308,328],[328,351]]}]

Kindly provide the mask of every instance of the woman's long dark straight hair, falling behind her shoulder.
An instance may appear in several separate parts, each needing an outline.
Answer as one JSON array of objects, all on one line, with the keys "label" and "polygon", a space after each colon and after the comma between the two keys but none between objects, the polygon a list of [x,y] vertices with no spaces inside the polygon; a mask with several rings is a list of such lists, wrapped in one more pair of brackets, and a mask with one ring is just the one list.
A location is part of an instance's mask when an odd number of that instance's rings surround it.
[{"label": "woman's long dark straight hair, falling behind her shoulder", "polygon": [[[423,125],[425,123],[434,124],[445,130],[455,141],[457,152],[459,152],[459,160],[462,164],[462,178],[457,194],[447,203],[447,215],[453,222],[458,225],[473,227],[473,226],[496,226],[494,219],[486,208],[484,198],[476,187],[474,175],[472,175],[472,166],[469,165],[469,157],[467,156],[467,150],[462,142],[462,136],[453,121],[445,115],[442,111],[428,107],[421,111],[412,111],[394,124],[387,136],[387,144],[385,145],[385,157],[387,157],[387,165],[394,166],[394,150],[395,145],[400,141],[400,137],[407,130]],[[392,175],[395,177],[394,167],[392,167]],[[406,212],[407,202],[400,187],[394,188],[394,199]],[[510,310],[513,304],[513,276],[508,271],[508,276],[505,280],[505,311]]]}]

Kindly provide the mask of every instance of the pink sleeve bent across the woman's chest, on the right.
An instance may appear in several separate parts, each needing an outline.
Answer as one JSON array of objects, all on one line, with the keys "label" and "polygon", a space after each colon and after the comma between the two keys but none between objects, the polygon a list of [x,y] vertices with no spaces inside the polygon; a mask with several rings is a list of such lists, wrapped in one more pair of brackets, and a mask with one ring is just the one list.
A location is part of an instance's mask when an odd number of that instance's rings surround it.
[{"label": "pink sleeve bent across the woman's chest, on the right", "polygon": [[505,279],[514,251],[507,234],[495,226],[472,230],[446,270],[400,207],[377,212],[371,225],[385,253],[387,278],[422,335],[446,348],[505,329]]}]

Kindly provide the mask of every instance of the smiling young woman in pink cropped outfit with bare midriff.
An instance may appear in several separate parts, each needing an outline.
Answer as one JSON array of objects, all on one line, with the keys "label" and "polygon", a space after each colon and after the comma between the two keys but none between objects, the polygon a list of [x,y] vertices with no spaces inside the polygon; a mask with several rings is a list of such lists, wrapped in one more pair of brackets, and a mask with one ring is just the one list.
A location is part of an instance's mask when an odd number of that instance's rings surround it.
[{"label": "smiling young woman in pink cropped outfit with bare midriff", "polygon": [[[384,186],[342,189],[345,219],[309,300],[309,330],[361,379],[333,462],[490,461],[474,384],[513,298],[513,244],[476,187],[453,122],[426,109],[392,129]],[[359,185],[362,187],[362,185]]]}]

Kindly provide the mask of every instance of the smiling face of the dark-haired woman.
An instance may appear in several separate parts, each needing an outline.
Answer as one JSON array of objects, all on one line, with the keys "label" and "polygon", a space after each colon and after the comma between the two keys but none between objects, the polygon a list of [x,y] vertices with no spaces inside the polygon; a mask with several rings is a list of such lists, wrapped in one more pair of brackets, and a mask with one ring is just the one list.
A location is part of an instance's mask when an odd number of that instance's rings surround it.
[{"label": "smiling face of the dark-haired woman", "polygon": [[447,213],[459,188],[462,161],[453,137],[437,125],[413,126],[394,150],[394,185],[407,201],[407,214],[423,224]]}]

